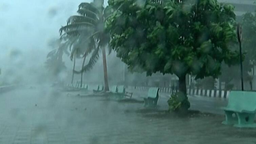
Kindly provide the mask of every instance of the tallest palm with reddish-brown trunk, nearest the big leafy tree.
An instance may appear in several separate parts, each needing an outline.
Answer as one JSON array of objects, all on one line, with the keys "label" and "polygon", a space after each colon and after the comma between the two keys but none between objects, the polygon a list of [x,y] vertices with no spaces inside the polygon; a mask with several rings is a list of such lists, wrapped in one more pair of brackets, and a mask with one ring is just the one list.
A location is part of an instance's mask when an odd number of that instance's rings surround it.
[{"label": "tallest palm with reddish-brown trunk, nearest the big leafy tree", "polygon": [[[103,72],[104,72],[104,84],[105,91],[109,90],[109,84],[107,79],[107,65],[106,65],[106,53],[105,48],[110,41],[109,33],[106,32],[104,23],[106,18],[110,15],[110,7],[103,6],[104,0],[94,0],[91,3],[81,3],[78,6],[77,13],[79,15],[71,16],[67,20],[67,25],[60,28],[61,37],[77,38],[79,41],[90,39],[95,42],[95,47],[88,48],[88,52],[85,53],[84,57],[89,52],[92,52],[88,64],[83,66],[80,73],[92,69],[93,65],[98,59],[98,53],[101,49],[103,59]],[[86,41],[85,40],[85,41]],[[71,40],[72,41],[72,40]],[[74,40],[76,41],[76,40]],[[71,45],[73,42],[71,42]],[[111,52],[111,49],[110,49]]]}]

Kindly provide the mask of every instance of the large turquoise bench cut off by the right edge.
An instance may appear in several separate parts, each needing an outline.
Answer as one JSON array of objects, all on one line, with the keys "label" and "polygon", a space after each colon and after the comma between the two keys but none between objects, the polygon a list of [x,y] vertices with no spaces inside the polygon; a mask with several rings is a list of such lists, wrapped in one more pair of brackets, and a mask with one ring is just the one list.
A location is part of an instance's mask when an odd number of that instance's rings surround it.
[{"label": "large turquoise bench cut off by the right edge", "polygon": [[256,92],[231,91],[228,106],[222,108],[226,120],[222,124],[235,127],[256,127],[254,117],[256,112]]}]

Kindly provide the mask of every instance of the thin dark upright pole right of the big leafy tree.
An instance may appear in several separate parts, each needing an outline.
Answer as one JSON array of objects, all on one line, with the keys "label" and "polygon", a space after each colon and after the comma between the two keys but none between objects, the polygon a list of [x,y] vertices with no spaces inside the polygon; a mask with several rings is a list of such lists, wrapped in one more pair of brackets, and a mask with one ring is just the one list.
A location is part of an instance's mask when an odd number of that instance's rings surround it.
[{"label": "thin dark upright pole right of the big leafy tree", "polygon": [[237,39],[239,42],[239,50],[240,50],[240,68],[241,68],[241,86],[243,91],[243,64],[242,64],[242,27],[240,24],[237,25]]}]

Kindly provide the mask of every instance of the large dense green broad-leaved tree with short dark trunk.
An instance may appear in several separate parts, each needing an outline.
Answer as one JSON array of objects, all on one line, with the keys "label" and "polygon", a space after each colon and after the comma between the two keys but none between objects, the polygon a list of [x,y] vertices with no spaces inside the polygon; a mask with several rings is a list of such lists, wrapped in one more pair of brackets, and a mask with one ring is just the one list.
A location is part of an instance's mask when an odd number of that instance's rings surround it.
[{"label": "large dense green broad-leaved tree with short dark trunk", "polygon": [[237,41],[232,5],[217,0],[109,0],[109,5],[114,12],[106,26],[117,57],[132,71],[178,76],[185,110],[186,74],[216,78],[222,61],[239,61],[238,51],[229,48]]}]

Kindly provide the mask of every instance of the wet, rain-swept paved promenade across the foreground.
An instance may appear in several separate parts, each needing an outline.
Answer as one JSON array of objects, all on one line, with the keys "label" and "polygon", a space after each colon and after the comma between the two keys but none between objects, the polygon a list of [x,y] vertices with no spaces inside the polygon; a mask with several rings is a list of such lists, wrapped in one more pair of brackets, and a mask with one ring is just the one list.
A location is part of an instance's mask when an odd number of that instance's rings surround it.
[{"label": "wet, rain-swept paved promenade across the foreground", "polygon": [[0,144],[256,143],[256,129],[222,125],[223,115],[181,118],[76,94],[44,86],[0,94]]}]

